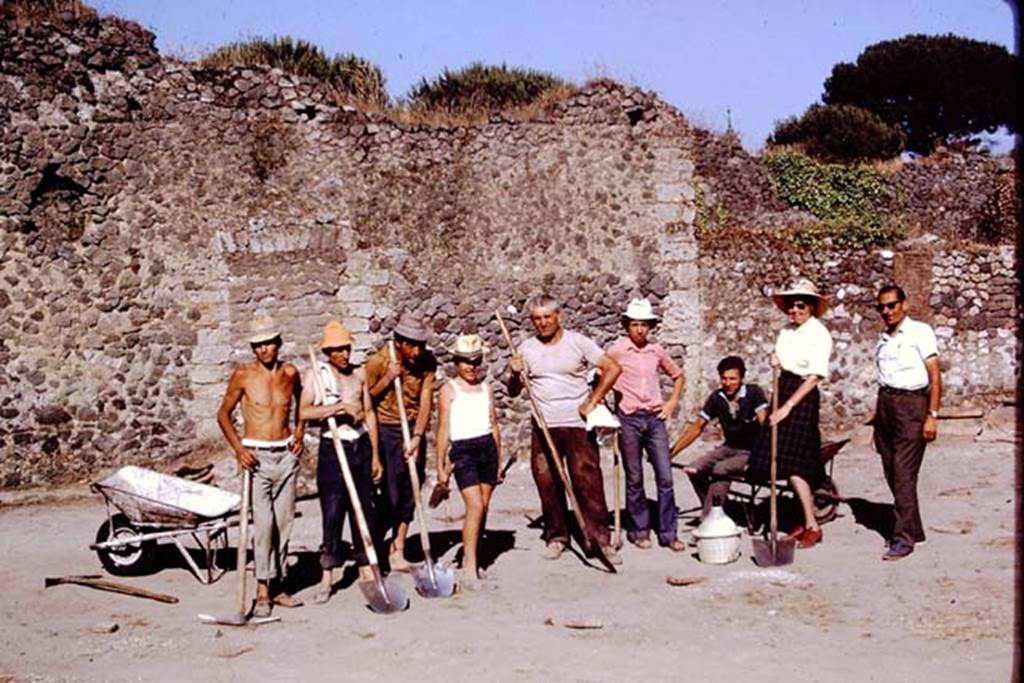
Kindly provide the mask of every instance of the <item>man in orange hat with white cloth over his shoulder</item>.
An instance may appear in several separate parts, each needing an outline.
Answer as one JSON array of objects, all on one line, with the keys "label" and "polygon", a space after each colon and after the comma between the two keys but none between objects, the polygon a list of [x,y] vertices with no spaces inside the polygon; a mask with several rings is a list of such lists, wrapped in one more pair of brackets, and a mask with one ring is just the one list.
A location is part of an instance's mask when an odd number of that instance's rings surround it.
[{"label": "man in orange hat with white cloth over his shoulder", "polygon": [[327,418],[333,417],[338,425],[341,447],[345,451],[348,469],[352,473],[362,515],[367,525],[374,528],[374,510],[370,505],[374,484],[383,475],[380,453],[377,447],[377,418],[367,389],[366,371],[349,362],[352,334],[338,321],[331,321],[324,328],[321,351],[326,361],[317,362],[318,383],[326,400],[316,395],[313,370],[306,373],[299,399],[299,415],[303,421],[319,423],[319,454],[316,460],[316,490],[319,494],[321,517],[324,523],[324,544],[321,547],[321,585],[313,594],[313,602],[324,604],[331,599],[332,569],[341,566],[341,530],[345,515],[349,514],[352,547],[359,579],[370,581],[373,574],[362,538],[355,521],[355,508],[349,500],[348,488],[342,478],[338,454],[331,438]]}]

